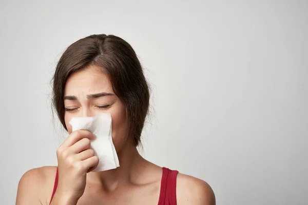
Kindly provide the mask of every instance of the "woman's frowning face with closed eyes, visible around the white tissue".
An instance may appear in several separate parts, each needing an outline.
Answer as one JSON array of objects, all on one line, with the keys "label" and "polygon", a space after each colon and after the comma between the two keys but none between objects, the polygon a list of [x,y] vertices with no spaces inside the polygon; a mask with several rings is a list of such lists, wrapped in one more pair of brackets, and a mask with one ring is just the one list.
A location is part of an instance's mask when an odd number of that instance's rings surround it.
[{"label": "woman's frowning face with closed eyes, visible around the white tissue", "polygon": [[69,134],[72,132],[72,126],[69,124],[71,118],[110,113],[113,144],[116,149],[122,147],[126,111],[101,68],[91,65],[68,77],[64,89],[64,107],[64,120]]}]

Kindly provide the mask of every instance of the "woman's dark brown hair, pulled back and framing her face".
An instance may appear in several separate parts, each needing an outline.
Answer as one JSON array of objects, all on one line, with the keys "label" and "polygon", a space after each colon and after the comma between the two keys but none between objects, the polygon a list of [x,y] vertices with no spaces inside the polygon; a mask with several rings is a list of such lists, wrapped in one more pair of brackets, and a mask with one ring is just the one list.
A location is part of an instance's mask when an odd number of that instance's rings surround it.
[{"label": "woman's dark brown hair, pulled back and framing her face", "polygon": [[126,109],[126,136],[138,146],[149,108],[149,87],[136,53],[118,36],[90,35],[64,51],[52,78],[52,102],[61,124],[67,130],[63,101],[66,80],[73,72],[89,65],[99,66],[108,75],[114,93]]}]

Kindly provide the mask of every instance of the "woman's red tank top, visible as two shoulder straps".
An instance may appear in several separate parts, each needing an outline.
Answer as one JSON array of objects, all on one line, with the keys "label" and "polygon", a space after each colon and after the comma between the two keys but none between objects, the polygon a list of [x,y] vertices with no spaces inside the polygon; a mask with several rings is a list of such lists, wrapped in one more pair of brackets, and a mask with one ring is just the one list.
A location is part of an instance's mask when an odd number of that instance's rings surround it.
[{"label": "woman's red tank top, visible as two shoulder straps", "polygon": [[[163,175],[162,175],[162,180],[161,180],[161,188],[160,188],[158,205],[177,205],[177,191],[176,191],[177,175],[178,175],[178,171],[169,170],[168,168],[163,167]],[[56,169],[54,186],[53,186],[50,203],[56,191],[58,178],[59,178],[58,169]]]}]

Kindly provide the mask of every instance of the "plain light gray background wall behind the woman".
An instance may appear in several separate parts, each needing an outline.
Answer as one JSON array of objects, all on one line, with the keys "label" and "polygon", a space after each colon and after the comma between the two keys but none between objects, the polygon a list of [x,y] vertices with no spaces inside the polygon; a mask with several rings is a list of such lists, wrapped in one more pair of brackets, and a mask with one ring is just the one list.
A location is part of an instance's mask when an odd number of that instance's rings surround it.
[{"label": "plain light gray background wall behind the woman", "polygon": [[0,203],[27,170],[56,165],[56,62],[106,33],[152,85],[147,159],[207,181],[217,204],[308,204],[307,13],[291,0],[1,1]]}]

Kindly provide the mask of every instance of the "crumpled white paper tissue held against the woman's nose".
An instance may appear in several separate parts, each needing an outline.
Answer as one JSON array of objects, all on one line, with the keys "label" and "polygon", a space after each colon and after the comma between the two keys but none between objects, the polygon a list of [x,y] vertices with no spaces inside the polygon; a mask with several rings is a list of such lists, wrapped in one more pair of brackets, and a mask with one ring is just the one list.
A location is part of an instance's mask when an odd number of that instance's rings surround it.
[{"label": "crumpled white paper tissue held against the woman's nose", "polygon": [[96,138],[91,140],[91,149],[100,161],[93,172],[100,172],[120,167],[117,152],[112,142],[112,126],[110,113],[102,113],[95,117],[74,117],[69,121],[72,131],[88,130]]}]

